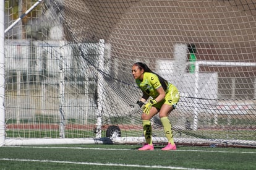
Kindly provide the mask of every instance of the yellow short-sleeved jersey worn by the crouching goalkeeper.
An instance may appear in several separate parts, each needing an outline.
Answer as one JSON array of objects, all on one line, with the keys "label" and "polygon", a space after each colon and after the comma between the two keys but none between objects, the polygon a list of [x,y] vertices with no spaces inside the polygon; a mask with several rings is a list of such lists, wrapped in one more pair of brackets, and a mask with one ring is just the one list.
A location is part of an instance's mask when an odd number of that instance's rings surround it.
[{"label": "yellow short-sleeved jersey worn by the crouching goalkeeper", "polygon": [[156,89],[160,88],[162,85],[156,74],[144,72],[142,82],[139,79],[136,79],[135,81],[143,93],[152,98],[156,98],[159,95]]}]

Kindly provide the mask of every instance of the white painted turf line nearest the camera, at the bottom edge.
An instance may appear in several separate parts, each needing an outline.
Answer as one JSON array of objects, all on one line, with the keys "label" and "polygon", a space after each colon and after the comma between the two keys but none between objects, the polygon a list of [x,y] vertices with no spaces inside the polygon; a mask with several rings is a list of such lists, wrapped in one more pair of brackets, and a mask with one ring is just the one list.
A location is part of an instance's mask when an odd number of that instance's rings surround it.
[{"label": "white painted turf line nearest the camera, at the bottom edge", "polygon": [[211,169],[195,169],[195,168],[183,168],[175,166],[147,166],[139,164],[113,164],[113,163],[87,163],[87,162],[74,162],[74,161],[53,161],[53,160],[36,160],[36,159],[9,159],[0,158],[1,161],[24,161],[24,162],[36,162],[36,163],[61,163],[61,164],[86,164],[95,166],[120,166],[120,167],[136,167],[136,168],[158,168],[158,169],[184,169],[184,170],[211,170]]}]

